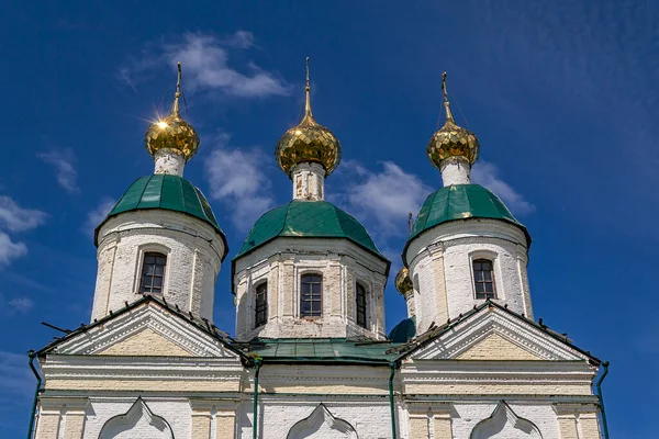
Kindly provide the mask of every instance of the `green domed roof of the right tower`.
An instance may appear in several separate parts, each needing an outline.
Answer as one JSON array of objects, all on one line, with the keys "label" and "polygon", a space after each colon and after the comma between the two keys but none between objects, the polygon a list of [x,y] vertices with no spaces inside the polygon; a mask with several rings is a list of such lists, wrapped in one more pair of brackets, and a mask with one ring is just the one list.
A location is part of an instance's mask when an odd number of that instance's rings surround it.
[{"label": "green domed roof of the right tower", "polygon": [[526,227],[513,216],[499,196],[479,184],[453,184],[428,195],[416,216],[407,244],[436,225],[468,218],[502,219],[514,224],[524,232],[530,244],[530,235]]}]

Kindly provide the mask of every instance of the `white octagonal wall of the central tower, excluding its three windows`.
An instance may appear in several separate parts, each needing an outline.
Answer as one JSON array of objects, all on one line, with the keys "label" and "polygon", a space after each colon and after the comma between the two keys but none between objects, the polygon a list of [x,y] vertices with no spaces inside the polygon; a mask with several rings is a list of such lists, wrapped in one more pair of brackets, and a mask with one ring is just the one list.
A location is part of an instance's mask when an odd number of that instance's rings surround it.
[{"label": "white octagonal wall of the central tower, excluding its three windows", "polygon": [[[279,237],[235,260],[236,338],[386,337],[387,262],[348,239]],[[300,316],[300,282],[323,278],[323,315]],[[256,289],[268,284],[268,320],[256,327]],[[367,294],[367,326],[356,322],[357,284]]]}]

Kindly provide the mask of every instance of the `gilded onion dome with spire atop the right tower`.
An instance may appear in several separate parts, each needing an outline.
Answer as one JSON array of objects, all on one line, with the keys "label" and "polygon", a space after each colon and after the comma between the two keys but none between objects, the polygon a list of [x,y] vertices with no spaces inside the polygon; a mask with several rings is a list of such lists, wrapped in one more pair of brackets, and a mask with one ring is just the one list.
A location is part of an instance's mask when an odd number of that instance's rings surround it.
[{"label": "gilded onion dome with spire atop the right tower", "polygon": [[426,146],[428,159],[438,169],[442,169],[444,160],[451,157],[463,158],[469,165],[473,165],[478,159],[480,145],[473,133],[456,124],[446,91],[446,72],[442,74],[442,91],[446,108],[446,122]]}]

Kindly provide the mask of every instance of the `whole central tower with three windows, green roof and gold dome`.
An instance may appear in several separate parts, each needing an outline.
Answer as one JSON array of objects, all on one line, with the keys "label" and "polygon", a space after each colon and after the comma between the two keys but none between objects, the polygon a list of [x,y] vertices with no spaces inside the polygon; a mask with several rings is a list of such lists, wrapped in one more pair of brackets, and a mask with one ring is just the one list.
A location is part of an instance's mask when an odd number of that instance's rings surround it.
[{"label": "whole central tower with three windows, green roof and gold dome", "polygon": [[293,200],[265,213],[233,260],[236,337],[383,339],[389,261],[355,217],[324,201],[340,144],[313,116],[306,61],[304,117],[275,151]]}]

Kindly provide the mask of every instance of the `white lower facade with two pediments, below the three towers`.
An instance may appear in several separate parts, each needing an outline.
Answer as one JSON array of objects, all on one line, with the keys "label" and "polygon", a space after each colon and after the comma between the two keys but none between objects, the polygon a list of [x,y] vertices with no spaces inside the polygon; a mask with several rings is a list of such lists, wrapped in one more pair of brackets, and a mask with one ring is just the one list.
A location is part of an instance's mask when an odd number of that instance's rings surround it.
[{"label": "white lower facade with two pediments, below the three towers", "polygon": [[[145,330],[160,337],[157,354],[122,356]],[[161,305],[119,314],[45,356],[37,439],[253,436],[254,367]],[[527,320],[483,308],[404,356],[392,381],[396,437],[599,439],[595,373]],[[389,367],[266,362],[257,437],[391,438],[389,380]]]}]

